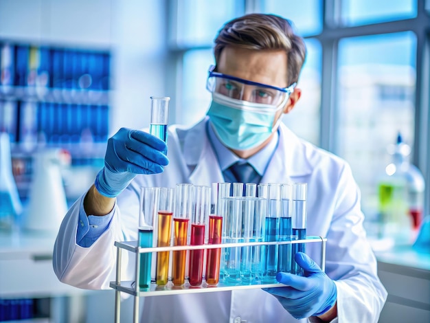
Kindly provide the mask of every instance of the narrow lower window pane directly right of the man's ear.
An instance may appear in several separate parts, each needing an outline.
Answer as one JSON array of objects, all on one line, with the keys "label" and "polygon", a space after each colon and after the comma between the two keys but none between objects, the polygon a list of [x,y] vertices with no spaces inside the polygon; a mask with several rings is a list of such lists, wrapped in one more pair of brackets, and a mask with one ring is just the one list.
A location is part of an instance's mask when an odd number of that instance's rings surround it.
[{"label": "narrow lower window pane directly right of the man's ear", "polygon": [[319,117],[321,107],[321,44],[306,39],[307,56],[297,87],[302,96],[294,109],[284,115],[284,124],[295,134],[313,144],[319,144]]}]

